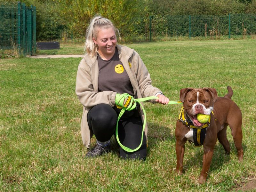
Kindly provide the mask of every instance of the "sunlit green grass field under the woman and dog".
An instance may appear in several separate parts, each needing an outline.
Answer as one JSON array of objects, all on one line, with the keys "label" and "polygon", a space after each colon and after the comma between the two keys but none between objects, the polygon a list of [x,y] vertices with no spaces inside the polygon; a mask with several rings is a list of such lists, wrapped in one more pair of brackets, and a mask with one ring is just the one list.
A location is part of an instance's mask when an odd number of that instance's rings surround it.
[{"label": "sunlit green grass field under the woman and dog", "polygon": [[[180,105],[146,103],[149,145],[145,162],[120,159],[113,137],[110,153],[86,159],[80,135],[82,105],[75,94],[81,59],[0,60],[0,191],[235,191],[256,175],[255,43],[128,45],[139,52],[153,85],[170,100],[179,100],[181,88],[213,87],[224,96],[227,86],[232,87],[232,99],[243,113],[244,163],[238,163],[228,130],[231,154],[226,155],[217,141],[204,185],[197,184],[203,148],[187,143],[184,174],[174,172],[174,129]],[[82,54],[83,45],[61,45],[59,51]]]}]

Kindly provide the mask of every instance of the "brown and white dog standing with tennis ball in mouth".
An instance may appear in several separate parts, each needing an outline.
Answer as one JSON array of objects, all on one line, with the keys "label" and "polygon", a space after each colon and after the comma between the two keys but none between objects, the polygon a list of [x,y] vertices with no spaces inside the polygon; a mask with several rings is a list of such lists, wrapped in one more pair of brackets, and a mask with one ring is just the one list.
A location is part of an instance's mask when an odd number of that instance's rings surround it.
[{"label": "brown and white dog standing with tennis ball in mouth", "polygon": [[[223,145],[225,151],[228,154],[230,153],[227,139],[228,125],[238,152],[238,160],[239,162],[243,161],[242,113],[236,103],[231,100],[232,95],[233,90],[229,86],[228,94],[224,97],[218,97],[217,91],[214,88],[185,88],[180,90],[180,100],[183,102],[184,110],[180,112],[175,129],[176,172],[178,174],[182,174],[183,172],[183,157],[186,141],[189,140],[194,144],[202,144],[204,146],[203,168],[198,182],[200,184],[205,183],[217,138],[221,145]],[[196,117],[198,113],[211,115],[210,122],[205,124],[200,123]],[[202,127],[205,127],[205,129],[203,130]]]}]

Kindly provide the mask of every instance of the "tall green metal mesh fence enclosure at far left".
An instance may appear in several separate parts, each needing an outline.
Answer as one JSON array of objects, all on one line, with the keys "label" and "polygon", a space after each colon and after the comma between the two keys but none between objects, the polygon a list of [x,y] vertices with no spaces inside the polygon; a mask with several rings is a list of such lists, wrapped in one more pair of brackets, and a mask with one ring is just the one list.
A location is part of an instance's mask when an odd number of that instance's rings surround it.
[{"label": "tall green metal mesh fence enclosure at far left", "polygon": [[25,3],[0,5],[0,49],[13,49],[21,55],[36,52],[36,7]]}]

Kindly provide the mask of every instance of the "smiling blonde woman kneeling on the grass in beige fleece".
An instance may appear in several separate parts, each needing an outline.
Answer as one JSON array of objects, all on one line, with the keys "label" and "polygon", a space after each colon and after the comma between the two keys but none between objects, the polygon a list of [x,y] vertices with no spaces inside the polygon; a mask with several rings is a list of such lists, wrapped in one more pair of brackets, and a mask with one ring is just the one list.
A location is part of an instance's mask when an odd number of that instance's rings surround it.
[{"label": "smiling blonde woman kneeling on the grass in beige fleece", "polygon": [[[118,31],[118,30],[117,30]],[[117,44],[116,28],[106,18],[96,16],[86,31],[85,50],[76,76],[76,94],[83,108],[81,134],[89,148],[93,134],[96,146],[87,157],[100,156],[110,149],[110,138],[115,133],[117,117],[128,97],[157,96],[151,102],[167,104],[169,99],[151,85],[150,75],[139,54]],[[135,149],[141,142],[144,114],[135,102],[125,105],[126,111],[118,123],[120,142]],[[119,146],[123,158],[145,159],[147,154],[147,126],[141,147],[127,152]]]}]

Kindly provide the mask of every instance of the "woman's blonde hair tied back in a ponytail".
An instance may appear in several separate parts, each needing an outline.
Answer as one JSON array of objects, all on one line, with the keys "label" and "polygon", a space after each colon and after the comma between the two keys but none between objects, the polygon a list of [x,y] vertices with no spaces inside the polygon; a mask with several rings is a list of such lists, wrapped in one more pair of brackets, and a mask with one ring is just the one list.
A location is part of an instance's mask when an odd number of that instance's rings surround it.
[{"label": "woman's blonde hair tied back in a ponytail", "polygon": [[94,57],[98,53],[98,45],[96,45],[92,38],[94,37],[97,39],[98,31],[103,28],[113,28],[115,31],[117,31],[120,39],[120,34],[118,29],[115,28],[113,23],[101,16],[95,16],[92,18],[90,25],[88,26],[86,30],[86,40],[85,40],[85,45],[84,45],[84,52],[86,51],[89,53],[92,57]]}]

